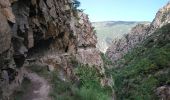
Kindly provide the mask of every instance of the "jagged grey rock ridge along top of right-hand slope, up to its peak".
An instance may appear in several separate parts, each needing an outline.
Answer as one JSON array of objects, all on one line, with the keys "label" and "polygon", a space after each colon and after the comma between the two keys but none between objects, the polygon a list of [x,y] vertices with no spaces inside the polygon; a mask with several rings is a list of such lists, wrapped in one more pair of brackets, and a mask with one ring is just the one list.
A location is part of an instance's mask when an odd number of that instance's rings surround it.
[{"label": "jagged grey rock ridge along top of right-hand slope, up to its peak", "polygon": [[131,32],[123,38],[113,41],[107,49],[106,55],[114,63],[122,58],[128,51],[141,43],[146,37],[150,36],[158,28],[170,22],[170,3],[161,8],[151,24],[139,24],[132,28]]}]

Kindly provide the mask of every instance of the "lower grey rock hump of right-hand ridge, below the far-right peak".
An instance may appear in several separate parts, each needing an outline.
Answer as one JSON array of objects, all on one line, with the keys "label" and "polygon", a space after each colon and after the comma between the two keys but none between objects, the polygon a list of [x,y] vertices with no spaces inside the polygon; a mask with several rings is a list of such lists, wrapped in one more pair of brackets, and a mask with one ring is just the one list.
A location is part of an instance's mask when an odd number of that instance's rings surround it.
[{"label": "lower grey rock hump of right-hand ridge, below the far-right peak", "polygon": [[107,56],[113,63],[122,58],[125,53],[145,39],[148,29],[149,25],[139,24],[135,26],[129,34],[125,34],[121,39],[113,41],[113,44],[107,49]]}]

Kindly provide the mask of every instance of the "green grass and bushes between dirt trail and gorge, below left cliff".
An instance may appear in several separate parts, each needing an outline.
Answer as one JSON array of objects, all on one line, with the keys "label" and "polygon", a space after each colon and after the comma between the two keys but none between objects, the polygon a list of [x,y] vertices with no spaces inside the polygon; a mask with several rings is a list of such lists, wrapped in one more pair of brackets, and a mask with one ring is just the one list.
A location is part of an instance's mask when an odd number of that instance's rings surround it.
[{"label": "green grass and bushes between dirt trail and gorge, below left cliff", "polygon": [[48,72],[39,65],[29,66],[29,69],[50,79],[52,84],[50,96],[53,100],[111,100],[111,88],[101,86],[102,76],[94,67],[76,62],[74,72],[79,77],[76,81],[64,81],[59,78],[58,71]]}]

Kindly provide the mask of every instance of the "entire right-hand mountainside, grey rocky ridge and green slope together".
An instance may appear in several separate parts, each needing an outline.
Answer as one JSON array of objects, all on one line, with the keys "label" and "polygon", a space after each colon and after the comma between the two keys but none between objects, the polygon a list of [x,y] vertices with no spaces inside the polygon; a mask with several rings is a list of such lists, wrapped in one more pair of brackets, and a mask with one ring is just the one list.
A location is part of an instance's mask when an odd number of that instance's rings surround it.
[{"label": "entire right-hand mountainside, grey rocky ridge and green slope together", "polygon": [[117,100],[170,99],[170,3],[107,50]]}]

